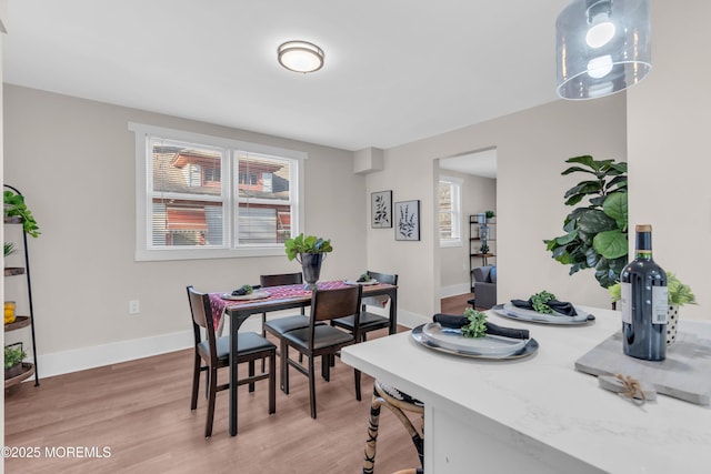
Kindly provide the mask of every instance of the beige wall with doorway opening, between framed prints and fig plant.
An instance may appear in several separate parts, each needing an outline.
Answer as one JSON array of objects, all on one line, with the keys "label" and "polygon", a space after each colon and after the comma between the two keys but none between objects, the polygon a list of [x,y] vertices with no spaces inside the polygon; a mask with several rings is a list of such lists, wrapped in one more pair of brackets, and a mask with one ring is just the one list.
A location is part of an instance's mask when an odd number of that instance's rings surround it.
[{"label": "beige wall with doorway opening, between framed prints and fig plant", "polygon": [[608,306],[591,271],[568,275],[543,239],[562,234],[570,211],[563,193],[579,179],[561,177],[564,160],[579,154],[625,159],[625,98],[557,101],[442,135],[387,150],[384,170],[368,177],[367,192],[392,189],[393,201],[422,200],[422,240],[395,242],[392,232],[368,229],[369,268],[400,275],[403,320],[439,311],[441,255],[437,252],[433,193],[435,159],[495,147],[497,264],[500,301],[543,289],[581,304]]}]

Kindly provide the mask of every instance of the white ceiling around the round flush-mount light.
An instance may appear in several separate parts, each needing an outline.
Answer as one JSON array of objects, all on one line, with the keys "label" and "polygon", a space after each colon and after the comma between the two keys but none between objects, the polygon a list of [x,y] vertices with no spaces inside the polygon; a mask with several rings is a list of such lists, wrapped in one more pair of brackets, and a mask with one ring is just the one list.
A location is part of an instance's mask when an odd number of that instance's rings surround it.
[{"label": "white ceiling around the round flush-mount light", "polygon": [[[313,142],[391,148],[550,102],[568,0],[8,0],[4,81]],[[298,74],[277,47],[319,44]]]}]

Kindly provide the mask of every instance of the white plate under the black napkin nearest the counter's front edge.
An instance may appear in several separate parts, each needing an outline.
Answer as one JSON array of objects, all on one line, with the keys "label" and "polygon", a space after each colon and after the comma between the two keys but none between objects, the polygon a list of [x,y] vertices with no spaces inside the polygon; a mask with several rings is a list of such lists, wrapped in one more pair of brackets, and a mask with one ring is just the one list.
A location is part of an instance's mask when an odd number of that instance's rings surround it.
[{"label": "white plate under the black napkin nearest the counter's front edge", "polygon": [[464,337],[461,330],[442,327],[440,323],[429,323],[422,326],[422,335],[427,341],[450,351],[500,357],[520,351],[527,343],[524,339],[511,339],[498,335]]}]

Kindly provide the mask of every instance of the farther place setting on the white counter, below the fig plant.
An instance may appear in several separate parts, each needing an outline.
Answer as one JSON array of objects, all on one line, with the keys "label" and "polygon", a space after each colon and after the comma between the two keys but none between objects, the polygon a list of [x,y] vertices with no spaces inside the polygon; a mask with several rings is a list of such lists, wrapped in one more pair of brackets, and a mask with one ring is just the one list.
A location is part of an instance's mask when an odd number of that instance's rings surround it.
[{"label": "farther place setting on the white counter, below the fig plant", "polygon": [[583,325],[594,322],[595,316],[570,302],[559,301],[545,290],[532,294],[528,300],[511,300],[491,309],[499,316],[541,324]]}]

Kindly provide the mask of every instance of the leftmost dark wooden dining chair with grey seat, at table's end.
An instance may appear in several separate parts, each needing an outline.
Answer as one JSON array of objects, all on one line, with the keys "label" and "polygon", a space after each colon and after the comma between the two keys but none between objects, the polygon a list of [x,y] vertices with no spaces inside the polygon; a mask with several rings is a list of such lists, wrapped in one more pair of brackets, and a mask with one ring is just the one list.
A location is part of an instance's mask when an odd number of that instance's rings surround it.
[{"label": "leftmost dark wooden dining chair with grey seat, at table's end", "polygon": [[[229,389],[230,384],[218,385],[218,369],[230,365],[230,337],[218,337],[212,322],[210,296],[188,286],[188,301],[192,314],[192,332],[194,336],[194,365],[192,373],[192,397],[190,410],[198,407],[198,392],[200,390],[200,372],[206,372],[208,387],[208,417],[204,437],[212,435],[214,420],[214,397],[217,392]],[[203,333],[204,332],[204,339]],[[253,332],[242,332],[237,341],[237,363],[249,364],[248,376],[238,380],[238,385],[249,384],[249,391],[254,391],[254,382],[269,379],[269,414],[277,411],[277,346]],[[269,360],[269,371],[256,374],[254,362]],[[203,365],[204,362],[204,365]]]}]

